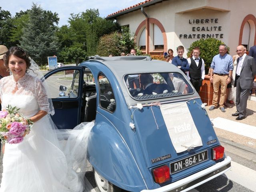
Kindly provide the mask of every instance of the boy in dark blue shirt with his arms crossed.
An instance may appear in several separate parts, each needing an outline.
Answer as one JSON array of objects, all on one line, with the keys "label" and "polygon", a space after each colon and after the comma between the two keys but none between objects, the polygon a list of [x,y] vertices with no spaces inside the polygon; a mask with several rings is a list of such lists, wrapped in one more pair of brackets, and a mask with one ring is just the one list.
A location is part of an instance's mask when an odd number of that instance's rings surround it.
[{"label": "boy in dark blue shirt with his arms crossed", "polygon": [[178,46],[177,53],[178,53],[178,56],[173,58],[172,64],[174,64],[175,66],[180,68],[180,70],[182,70],[185,74],[187,74],[187,71],[189,71],[189,64],[188,64],[188,60],[183,58],[184,47]]}]

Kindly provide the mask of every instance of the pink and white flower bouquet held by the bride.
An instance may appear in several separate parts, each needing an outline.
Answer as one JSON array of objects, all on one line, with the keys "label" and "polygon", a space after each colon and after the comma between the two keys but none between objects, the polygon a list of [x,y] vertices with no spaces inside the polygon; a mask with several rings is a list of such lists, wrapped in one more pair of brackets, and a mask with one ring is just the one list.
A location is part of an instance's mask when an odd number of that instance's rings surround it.
[{"label": "pink and white flower bouquet held by the bride", "polygon": [[33,122],[20,114],[19,110],[16,106],[8,105],[6,110],[0,111],[1,142],[18,144],[29,134]]}]

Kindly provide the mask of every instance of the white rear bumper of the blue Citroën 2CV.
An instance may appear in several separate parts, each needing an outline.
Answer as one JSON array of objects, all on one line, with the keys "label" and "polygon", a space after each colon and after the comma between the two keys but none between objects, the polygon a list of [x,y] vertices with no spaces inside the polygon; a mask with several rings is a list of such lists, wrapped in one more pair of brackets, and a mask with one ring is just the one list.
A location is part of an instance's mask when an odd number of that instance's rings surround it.
[{"label": "white rear bumper of the blue Citro\u00ebn 2CV", "polygon": [[208,182],[209,180],[212,180],[213,178],[216,178],[217,176],[230,170],[230,168],[231,158],[227,156],[224,161],[216,163],[214,166],[208,167],[184,179],[157,189],[142,190],[141,192],[186,192],[205,182]]}]

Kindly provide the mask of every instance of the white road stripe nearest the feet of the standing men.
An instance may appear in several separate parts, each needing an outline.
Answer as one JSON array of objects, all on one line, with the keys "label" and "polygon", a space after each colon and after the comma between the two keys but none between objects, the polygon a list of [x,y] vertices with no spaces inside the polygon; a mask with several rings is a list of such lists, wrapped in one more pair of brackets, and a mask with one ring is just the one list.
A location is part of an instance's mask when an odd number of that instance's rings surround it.
[{"label": "white road stripe nearest the feet of the standing men", "polygon": [[221,117],[212,120],[214,127],[256,139],[256,127],[224,119]]}]

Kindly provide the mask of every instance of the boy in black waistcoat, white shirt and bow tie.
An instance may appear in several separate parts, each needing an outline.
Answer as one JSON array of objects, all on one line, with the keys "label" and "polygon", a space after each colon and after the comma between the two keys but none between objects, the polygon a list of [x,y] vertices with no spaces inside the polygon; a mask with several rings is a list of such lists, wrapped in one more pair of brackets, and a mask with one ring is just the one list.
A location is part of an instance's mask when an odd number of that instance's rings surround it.
[{"label": "boy in black waistcoat, white shirt and bow tie", "polygon": [[192,50],[192,57],[188,58],[189,68],[189,78],[190,82],[199,93],[202,86],[202,81],[204,80],[205,70],[204,70],[204,60],[199,57],[200,48],[195,47]]}]

